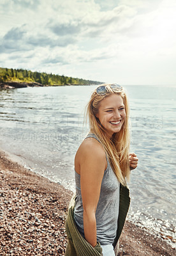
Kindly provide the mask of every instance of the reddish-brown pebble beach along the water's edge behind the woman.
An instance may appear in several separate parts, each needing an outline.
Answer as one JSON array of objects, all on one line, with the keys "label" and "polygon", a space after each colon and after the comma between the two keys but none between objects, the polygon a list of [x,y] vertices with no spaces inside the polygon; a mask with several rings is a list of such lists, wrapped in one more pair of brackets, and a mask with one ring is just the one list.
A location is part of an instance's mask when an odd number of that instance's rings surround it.
[{"label": "reddish-brown pebble beach along the water's edge behind the woman", "polygon": [[[0,152],[0,256],[64,255],[71,195]],[[118,255],[173,256],[176,251],[165,240],[126,221]]]}]

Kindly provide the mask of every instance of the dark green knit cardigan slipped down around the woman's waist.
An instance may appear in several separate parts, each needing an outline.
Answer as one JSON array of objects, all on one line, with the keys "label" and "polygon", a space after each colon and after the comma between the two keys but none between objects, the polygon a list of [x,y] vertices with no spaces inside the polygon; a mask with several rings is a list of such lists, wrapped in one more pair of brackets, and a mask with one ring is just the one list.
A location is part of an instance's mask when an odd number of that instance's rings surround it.
[{"label": "dark green knit cardigan slipped down around the woman's waist", "polygon": [[[102,248],[99,242],[95,247],[92,247],[84,237],[78,232],[74,220],[74,208],[76,202],[76,195],[73,195],[68,207],[68,216],[66,219],[66,234],[68,236],[68,245],[66,248],[65,256],[100,256],[102,255]],[[119,237],[121,236],[122,229],[126,220],[130,204],[129,189],[125,186],[120,187],[120,201],[119,201],[119,218],[117,226],[117,234],[114,239],[113,246],[115,248]]]}]

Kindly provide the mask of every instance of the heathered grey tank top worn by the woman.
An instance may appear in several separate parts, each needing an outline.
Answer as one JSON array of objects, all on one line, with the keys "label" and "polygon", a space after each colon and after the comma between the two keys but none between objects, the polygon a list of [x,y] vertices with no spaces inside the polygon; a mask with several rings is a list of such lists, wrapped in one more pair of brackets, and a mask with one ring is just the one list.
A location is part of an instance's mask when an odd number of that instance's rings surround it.
[{"label": "heathered grey tank top worn by the woman", "polygon": [[[88,134],[86,138],[95,138],[95,134]],[[85,139],[86,139],[85,138]],[[99,140],[98,140],[99,141]],[[100,143],[100,141],[99,141]],[[119,216],[119,192],[120,182],[110,166],[106,156],[107,168],[101,182],[101,191],[96,208],[96,234],[100,244],[112,244],[117,232],[117,220]],[[80,189],[80,175],[75,172],[77,200],[75,204],[74,218],[80,234],[84,237],[83,206]]]}]

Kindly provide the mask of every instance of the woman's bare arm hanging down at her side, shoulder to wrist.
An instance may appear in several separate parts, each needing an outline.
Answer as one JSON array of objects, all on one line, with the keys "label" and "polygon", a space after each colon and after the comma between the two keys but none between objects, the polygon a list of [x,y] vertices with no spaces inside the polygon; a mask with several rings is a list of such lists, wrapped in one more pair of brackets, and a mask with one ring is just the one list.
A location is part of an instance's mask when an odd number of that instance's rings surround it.
[{"label": "woman's bare arm hanging down at her side, shoulder to wrist", "polygon": [[98,142],[87,139],[81,150],[80,184],[84,207],[84,236],[96,246],[96,207],[106,168],[106,156]]}]

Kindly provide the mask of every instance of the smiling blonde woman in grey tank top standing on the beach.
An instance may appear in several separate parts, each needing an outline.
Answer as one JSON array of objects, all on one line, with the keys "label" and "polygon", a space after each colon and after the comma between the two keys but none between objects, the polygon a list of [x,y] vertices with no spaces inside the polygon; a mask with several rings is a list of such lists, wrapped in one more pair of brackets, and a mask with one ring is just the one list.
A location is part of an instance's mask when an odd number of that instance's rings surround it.
[{"label": "smiling blonde woman in grey tank top standing on the beach", "polygon": [[87,104],[87,116],[90,131],[75,156],[77,195],[66,223],[66,255],[102,255],[99,246],[103,256],[113,256],[117,230],[124,225],[119,222],[121,205],[126,204],[120,187],[127,187],[130,170],[138,163],[136,155],[129,154],[129,106],[122,86],[98,86]]}]

